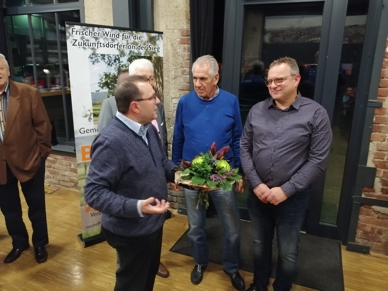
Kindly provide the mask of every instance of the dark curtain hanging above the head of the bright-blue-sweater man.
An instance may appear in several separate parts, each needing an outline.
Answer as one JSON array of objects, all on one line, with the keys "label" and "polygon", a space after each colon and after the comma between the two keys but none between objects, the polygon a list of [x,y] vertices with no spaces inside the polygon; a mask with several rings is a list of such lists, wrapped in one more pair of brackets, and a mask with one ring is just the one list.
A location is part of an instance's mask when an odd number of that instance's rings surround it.
[{"label": "dark curtain hanging above the head of the bright-blue-sweater man", "polygon": [[190,44],[193,62],[212,54],[214,0],[190,0]]}]

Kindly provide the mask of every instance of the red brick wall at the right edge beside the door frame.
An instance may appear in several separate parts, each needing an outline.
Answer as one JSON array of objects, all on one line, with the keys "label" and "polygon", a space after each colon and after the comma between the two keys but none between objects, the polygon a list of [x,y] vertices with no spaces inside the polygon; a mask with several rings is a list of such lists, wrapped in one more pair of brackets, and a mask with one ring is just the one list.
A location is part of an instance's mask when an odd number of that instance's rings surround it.
[{"label": "red brick wall at the right edge beside the door frame", "polygon": [[[388,39],[387,39],[388,48]],[[373,119],[368,166],[376,167],[373,188],[364,187],[363,196],[388,200],[388,52],[384,54],[376,108]],[[388,255],[388,208],[362,205],[359,213],[356,243],[369,245],[373,252]]]}]

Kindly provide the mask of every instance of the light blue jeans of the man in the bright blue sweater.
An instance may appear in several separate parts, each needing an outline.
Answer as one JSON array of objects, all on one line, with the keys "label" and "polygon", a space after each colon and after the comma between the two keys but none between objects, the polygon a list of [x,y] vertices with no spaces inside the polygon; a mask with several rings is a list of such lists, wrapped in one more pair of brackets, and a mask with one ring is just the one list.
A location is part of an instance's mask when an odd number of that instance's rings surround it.
[{"label": "light blue jeans of the man in the bright blue sweater", "polygon": [[[206,207],[193,205],[195,195],[199,190],[183,189],[186,198],[187,217],[189,220],[188,237],[195,264],[206,266],[209,262],[209,247],[206,242]],[[217,210],[224,230],[223,264],[227,272],[236,272],[239,269],[241,224],[237,205],[237,194],[233,190],[210,191],[211,199]]]}]

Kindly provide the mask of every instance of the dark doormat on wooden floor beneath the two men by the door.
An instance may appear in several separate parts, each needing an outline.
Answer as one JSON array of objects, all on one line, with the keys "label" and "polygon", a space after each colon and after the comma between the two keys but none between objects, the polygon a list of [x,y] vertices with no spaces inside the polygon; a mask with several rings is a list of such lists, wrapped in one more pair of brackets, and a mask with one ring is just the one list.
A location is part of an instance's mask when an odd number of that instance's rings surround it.
[{"label": "dark doormat on wooden floor beneath the two men by the door", "polygon": [[[209,243],[210,261],[222,265],[223,234],[218,217],[207,218],[206,235]],[[241,237],[240,269],[253,273],[253,243],[249,221],[241,221]],[[187,231],[170,251],[192,256]],[[275,278],[276,260],[277,246],[275,238],[272,254],[272,278]],[[322,291],[344,290],[340,242],[301,233],[299,257],[293,283]]]}]

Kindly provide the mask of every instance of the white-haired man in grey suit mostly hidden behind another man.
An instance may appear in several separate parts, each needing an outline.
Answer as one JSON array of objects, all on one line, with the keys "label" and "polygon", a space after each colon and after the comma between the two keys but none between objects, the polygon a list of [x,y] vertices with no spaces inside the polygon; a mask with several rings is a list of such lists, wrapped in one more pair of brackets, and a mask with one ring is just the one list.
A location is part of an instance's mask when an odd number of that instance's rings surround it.
[{"label": "white-haired man in grey suit mostly hidden behind another man", "polygon": [[[145,76],[148,78],[150,84],[152,85],[155,84],[155,81],[156,81],[156,79],[154,79],[154,66],[147,59],[137,59],[129,65],[128,71],[120,72],[117,77],[117,85],[131,75]],[[158,97],[156,98],[158,99]],[[157,117],[156,119],[152,120],[152,124],[158,130],[159,136],[162,141],[163,151],[166,153],[166,156],[168,156],[167,127],[166,127],[166,119],[164,115],[164,106],[159,99],[157,100],[157,107],[158,107]],[[100,114],[98,115],[98,132],[101,132],[101,130],[114,118],[114,116],[116,116],[116,112],[117,112],[117,105],[116,105],[116,99],[114,98],[114,96],[109,97],[102,102]],[[118,261],[117,261],[117,265],[119,265]],[[164,266],[162,262],[159,265],[159,271],[157,275],[164,278],[170,275],[167,268]]]}]

